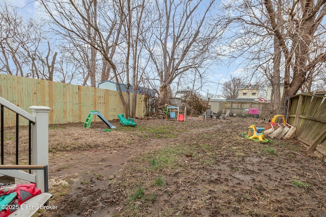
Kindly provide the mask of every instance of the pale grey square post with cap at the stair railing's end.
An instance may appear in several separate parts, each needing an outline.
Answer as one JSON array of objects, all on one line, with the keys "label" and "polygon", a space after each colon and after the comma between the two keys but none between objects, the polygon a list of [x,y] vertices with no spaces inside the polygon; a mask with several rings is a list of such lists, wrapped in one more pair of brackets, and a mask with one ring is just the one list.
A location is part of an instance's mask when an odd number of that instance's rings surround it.
[{"label": "pale grey square post with cap at the stair railing's end", "polygon": [[[33,165],[47,165],[49,162],[49,111],[46,106],[29,107],[35,116],[35,125],[33,125]],[[44,192],[44,177],[42,170],[33,170],[36,176],[36,187]]]}]

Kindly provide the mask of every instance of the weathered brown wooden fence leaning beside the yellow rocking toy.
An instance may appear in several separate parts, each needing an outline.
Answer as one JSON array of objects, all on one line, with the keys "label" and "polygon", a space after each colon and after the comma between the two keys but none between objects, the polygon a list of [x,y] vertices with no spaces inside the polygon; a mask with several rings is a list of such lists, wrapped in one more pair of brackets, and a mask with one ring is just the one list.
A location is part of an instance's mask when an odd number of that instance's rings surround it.
[{"label": "weathered brown wooden fence leaning beside the yellow rocking toy", "polygon": [[308,151],[326,156],[326,92],[290,97],[288,123],[296,127],[295,137]]}]

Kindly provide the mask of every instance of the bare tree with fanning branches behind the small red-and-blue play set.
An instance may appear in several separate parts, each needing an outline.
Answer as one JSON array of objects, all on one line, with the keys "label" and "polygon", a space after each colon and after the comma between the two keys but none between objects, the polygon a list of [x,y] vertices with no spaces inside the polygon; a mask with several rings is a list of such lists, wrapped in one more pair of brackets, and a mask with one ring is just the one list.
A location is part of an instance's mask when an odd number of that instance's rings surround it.
[{"label": "bare tree with fanning branches behind the small red-and-blue play set", "polygon": [[172,96],[171,83],[182,73],[198,69],[205,62],[210,45],[220,33],[209,25],[215,1],[155,1],[152,24],[144,45],[159,81],[158,104]]}]

